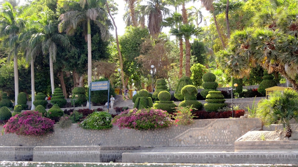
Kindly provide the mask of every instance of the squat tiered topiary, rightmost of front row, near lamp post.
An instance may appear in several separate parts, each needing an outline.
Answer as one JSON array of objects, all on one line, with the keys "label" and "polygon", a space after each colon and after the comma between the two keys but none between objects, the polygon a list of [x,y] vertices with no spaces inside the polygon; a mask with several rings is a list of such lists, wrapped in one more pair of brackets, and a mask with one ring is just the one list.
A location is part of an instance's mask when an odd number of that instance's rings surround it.
[{"label": "squat tiered topiary, rightmost of front row, near lamp post", "polygon": [[225,101],[221,91],[210,91],[206,96],[207,103],[204,104],[204,108],[207,112],[217,112],[218,109],[226,107]]}]

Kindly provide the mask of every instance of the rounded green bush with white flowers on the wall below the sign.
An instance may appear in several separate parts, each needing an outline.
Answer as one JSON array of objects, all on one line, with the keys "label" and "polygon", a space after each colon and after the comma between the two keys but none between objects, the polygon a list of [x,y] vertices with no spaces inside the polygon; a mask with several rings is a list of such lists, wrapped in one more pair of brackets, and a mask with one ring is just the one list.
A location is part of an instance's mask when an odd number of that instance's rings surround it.
[{"label": "rounded green bush with white flowers on the wall below the sign", "polygon": [[110,113],[97,111],[88,115],[86,119],[79,124],[79,127],[95,130],[108,129],[112,127],[111,120],[112,116]]}]

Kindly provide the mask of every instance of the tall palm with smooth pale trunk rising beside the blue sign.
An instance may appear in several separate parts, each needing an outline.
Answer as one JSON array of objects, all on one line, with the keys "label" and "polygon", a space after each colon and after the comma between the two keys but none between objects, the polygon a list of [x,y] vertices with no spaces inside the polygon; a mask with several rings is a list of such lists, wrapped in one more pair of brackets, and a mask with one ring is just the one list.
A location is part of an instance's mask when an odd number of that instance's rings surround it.
[{"label": "tall palm with smooth pale trunk rising beside the blue sign", "polygon": [[103,9],[105,0],[58,0],[58,4],[67,12],[60,15],[59,31],[66,31],[73,35],[78,26],[83,27],[83,35],[88,44],[88,86],[91,83],[92,56],[91,56],[91,27],[93,21],[99,28],[103,40],[108,40],[108,28],[112,28],[107,12]]}]

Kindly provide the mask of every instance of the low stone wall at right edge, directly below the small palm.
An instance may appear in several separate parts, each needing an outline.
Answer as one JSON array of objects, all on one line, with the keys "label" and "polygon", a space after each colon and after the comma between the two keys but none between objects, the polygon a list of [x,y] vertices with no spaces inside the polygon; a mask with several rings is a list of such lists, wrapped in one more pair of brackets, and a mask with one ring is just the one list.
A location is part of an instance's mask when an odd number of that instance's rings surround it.
[{"label": "low stone wall at right edge, directly below the small palm", "polygon": [[235,152],[298,152],[297,140],[235,141]]}]

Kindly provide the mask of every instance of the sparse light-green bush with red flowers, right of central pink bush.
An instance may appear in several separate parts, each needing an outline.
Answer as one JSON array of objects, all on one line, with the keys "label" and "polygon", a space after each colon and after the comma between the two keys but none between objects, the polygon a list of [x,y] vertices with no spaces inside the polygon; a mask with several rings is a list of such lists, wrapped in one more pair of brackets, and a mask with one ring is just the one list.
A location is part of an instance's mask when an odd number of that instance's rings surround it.
[{"label": "sparse light-green bush with red flowers, right of central pink bush", "polygon": [[193,108],[192,107],[175,107],[177,113],[174,113],[173,118],[175,119],[175,124],[177,125],[190,125],[193,124]]}]

